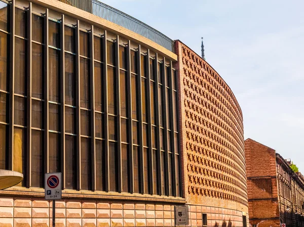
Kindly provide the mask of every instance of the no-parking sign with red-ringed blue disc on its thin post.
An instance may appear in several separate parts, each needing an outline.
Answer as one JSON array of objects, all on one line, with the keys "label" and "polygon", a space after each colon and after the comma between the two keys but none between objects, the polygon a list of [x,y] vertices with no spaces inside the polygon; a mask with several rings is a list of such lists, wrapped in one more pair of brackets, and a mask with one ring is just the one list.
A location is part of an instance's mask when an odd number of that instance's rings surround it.
[{"label": "no-parking sign with red-ringed blue disc on its thin post", "polygon": [[45,199],[53,200],[53,227],[55,227],[55,200],[61,199],[61,172],[45,174]]}]

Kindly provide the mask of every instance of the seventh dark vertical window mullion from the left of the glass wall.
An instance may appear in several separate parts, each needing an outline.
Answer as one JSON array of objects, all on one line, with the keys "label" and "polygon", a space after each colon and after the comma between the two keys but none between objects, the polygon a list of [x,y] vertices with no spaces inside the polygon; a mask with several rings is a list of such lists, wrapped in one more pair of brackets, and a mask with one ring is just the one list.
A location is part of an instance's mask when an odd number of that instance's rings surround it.
[{"label": "seventh dark vertical window mullion from the left of the glass wall", "polygon": [[104,31],[103,37],[103,70],[104,70],[104,135],[105,135],[105,191],[109,191],[109,130],[108,130],[108,88],[107,88],[107,32]]}]

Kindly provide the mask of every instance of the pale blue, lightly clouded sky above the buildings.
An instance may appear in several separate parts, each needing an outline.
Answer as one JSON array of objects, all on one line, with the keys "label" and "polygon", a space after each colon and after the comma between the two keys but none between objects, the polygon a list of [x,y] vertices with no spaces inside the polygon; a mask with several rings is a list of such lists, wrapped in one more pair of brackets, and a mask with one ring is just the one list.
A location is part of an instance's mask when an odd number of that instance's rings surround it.
[{"label": "pale blue, lightly clouded sky above the buildings", "polygon": [[232,88],[244,137],[304,174],[304,1],[102,0],[201,55]]}]

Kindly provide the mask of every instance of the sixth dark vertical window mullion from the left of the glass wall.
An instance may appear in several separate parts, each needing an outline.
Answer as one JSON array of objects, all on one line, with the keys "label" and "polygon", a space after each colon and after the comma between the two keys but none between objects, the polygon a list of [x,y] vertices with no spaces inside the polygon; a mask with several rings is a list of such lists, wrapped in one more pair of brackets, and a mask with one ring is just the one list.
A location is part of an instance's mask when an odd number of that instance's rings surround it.
[{"label": "sixth dark vertical window mullion from the left of the glass wall", "polygon": [[92,148],[92,183],[93,183],[93,191],[96,191],[96,148],[95,148],[95,71],[94,71],[94,26],[91,25],[91,148]]}]

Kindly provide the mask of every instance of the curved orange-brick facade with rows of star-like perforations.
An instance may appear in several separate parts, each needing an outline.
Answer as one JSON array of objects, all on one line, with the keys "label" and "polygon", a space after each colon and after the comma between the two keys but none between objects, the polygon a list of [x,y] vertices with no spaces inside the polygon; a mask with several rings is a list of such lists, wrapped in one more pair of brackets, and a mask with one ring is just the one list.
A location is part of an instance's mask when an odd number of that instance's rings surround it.
[{"label": "curved orange-brick facade with rows of star-like perforations", "polygon": [[186,199],[198,204],[212,198],[247,206],[240,106],[207,62],[179,41],[177,52]]}]

